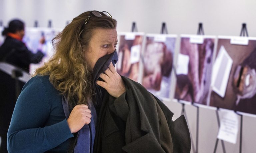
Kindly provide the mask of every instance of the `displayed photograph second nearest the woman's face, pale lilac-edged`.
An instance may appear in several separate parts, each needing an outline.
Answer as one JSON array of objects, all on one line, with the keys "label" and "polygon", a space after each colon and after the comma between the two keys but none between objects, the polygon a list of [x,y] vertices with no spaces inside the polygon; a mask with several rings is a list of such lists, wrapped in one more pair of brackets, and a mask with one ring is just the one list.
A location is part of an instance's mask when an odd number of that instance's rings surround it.
[{"label": "displayed photograph second nearest the woman's face, pale lilac-edged", "polygon": [[175,35],[146,35],[142,85],[155,96],[169,98],[175,42]]}]

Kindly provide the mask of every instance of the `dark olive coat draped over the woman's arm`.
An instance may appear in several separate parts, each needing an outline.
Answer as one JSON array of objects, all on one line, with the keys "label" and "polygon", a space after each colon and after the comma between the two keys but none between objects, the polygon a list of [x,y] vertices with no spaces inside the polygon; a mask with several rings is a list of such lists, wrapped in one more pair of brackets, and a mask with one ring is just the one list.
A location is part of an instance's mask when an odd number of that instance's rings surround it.
[{"label": "dark olive coat draped over the woman's arm", "polygon": [[126,92],[115,99],[104,95],[98,116],[94,152],[190,152],[189,129],[142,85],[122,77]]}]

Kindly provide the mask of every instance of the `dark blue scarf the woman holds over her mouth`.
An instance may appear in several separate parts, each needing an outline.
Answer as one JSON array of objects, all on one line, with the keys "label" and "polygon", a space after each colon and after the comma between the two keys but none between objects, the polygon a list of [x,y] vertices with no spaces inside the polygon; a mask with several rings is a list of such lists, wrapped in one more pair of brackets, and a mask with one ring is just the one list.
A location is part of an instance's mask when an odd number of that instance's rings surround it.
[{"label": "dark blue scarf the woman holds over her mouth", "polygon": [[[95,125],[97,124],[97,113],[100,109],[103,94],[105,93],[105,89],[101,88],[96,84],[96,81],[99,78],[99,75],[103,73],[108,67],[110,62],[115,65],[115,63],[118,60],[117,52],[116,50],[108,55],[105,55],[98,59],[96,62],[94,68],[93,68],[93,90],[96,93],[93,97],[93,100],[96,101],[96,108],[94,107],[94,103],[91,103],[89,109],[91,110],[91,122],[89,124],[85,124],[76,134],[74,134],[74,141],[76,141],[76,144],[74,148],[69,148],[70,150],[73,150],[74,153],[93,153],[93,144],[95,139]],[[63,110],[65,113],[66,118],[70,115],[69,105],[68,101],[65,96],[62,96],[62,105]],[[71,142],[72,143],[72,142]],[[73,147],[70,145],[70,147]]]}]

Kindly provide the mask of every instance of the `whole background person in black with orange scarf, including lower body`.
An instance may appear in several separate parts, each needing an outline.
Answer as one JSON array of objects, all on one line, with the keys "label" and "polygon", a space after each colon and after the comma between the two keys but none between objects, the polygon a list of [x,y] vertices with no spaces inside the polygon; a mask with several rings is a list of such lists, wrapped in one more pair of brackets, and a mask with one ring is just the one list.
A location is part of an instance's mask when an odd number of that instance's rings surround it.
[{"label": "whole background person in black with orange scarf, including lower body", "polygon": [[[22,42],[24,34],[24,23],[22,21],[10,21],[8,28],[4,28],[2,32],[5,40],[0,46],[0,62],[11,64],[22,69],[24,73],[28,73],[30,63],[38,63],[44,56],[40,51],[44,39],[40,40],[41,45],[38,52],[33,54]],[[2,68],[0,67],[0,136],[2,140],[0,153],[7,153],[7,131],[17,100],[16,94],[17,92],[20,93],[25,83],[21,81],[16,82],[12,76],[2,71]],[[10,70],[11,68],[8,69]]]}]

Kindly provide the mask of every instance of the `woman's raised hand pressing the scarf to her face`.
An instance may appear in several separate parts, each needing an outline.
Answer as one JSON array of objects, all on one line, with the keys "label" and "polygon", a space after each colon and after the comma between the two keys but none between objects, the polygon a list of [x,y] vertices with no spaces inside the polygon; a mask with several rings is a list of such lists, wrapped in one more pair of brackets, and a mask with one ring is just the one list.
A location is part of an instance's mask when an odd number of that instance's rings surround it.
[{"label": "woman's raised hand pressing the scarf to her face", "polygon": [[105,73],[100,74],[100,78],[104,81],[97,81],[97,85],[105,88],[111,96],[117,98],[126,91],[124,82],[121,76],[116,72],[112,62],[110,63],[109,68],[105,71]]}]

